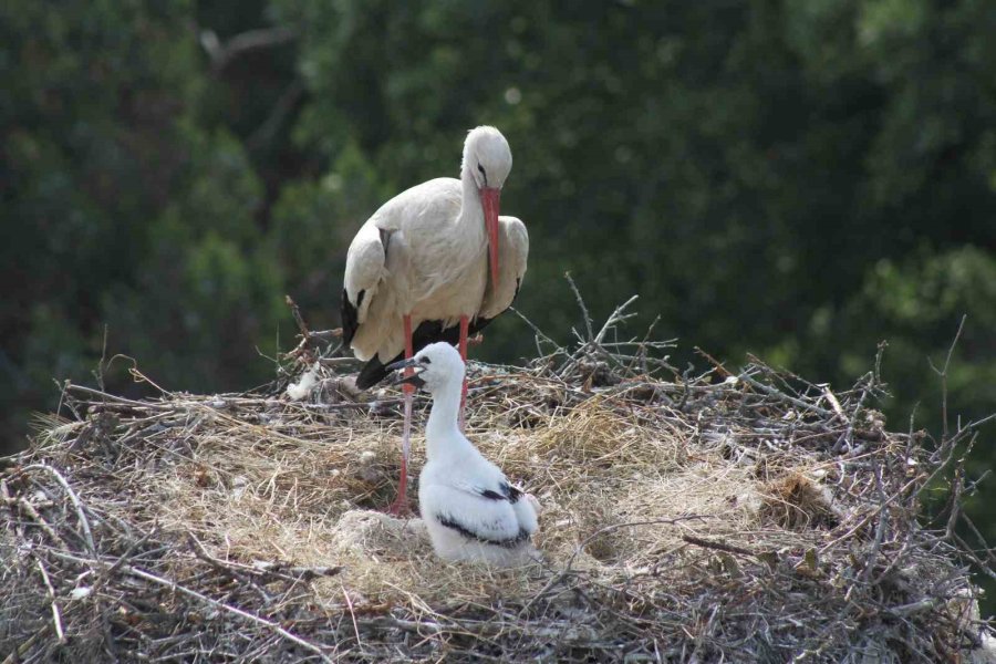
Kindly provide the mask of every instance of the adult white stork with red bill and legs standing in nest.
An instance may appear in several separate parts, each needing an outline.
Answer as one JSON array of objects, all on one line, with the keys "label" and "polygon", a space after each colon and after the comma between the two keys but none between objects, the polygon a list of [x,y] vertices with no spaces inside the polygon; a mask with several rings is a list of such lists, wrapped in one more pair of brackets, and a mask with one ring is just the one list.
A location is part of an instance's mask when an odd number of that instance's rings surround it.
[{"label": "adult white stork with red bill and legs standing in nest", "polygon": [[[376,384],[385,365],[436,341],[457,343],[466,360],[468,334],[511,304],[529,252],[526,226],[498,216],[511,163],[505,136],[477,127],[464,143],[460,179],[436,178],[398,194],[353,238],[341,312],[344,342],[366,361],[357,387]],[[395,512],[407,510],[411,423],[406,386]]]}]

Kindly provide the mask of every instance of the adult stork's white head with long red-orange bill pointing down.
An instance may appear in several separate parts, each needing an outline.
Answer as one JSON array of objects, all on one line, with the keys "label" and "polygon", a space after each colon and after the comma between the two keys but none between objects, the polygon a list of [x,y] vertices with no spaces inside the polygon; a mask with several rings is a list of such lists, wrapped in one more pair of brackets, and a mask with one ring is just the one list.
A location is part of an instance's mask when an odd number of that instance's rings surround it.
[{"label": "adult stork's white head with long red-orange bill pointing down", "polygon": [[480,194],[485,228],[488,232],[491,280],[498,281],[498,201],[501,187],[511,170],[511,151],[508,141],[495,127],[480,126],[470,129],[464,143],[463,170],[474,178]]}]

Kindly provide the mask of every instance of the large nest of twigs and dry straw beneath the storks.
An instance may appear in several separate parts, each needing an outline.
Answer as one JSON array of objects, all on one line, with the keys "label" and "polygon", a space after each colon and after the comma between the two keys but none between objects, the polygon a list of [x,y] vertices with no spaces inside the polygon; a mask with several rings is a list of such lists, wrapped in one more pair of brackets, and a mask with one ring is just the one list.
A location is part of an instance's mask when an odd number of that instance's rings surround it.
[{"label": "large nest of twigs and dry straw beneath the storks", "polygon": [[[614,340],[624,318],[525,367],[471,364],[467,433],[542,506],[543,562],[512,570],[440,562],[417,519],[378,511],[397,479],[400,395],[357,394],[342,360],[299,352],[312,367],[300,400],[69,387],[76,418],[50,422],[0,476],[0,656],[871,664],[985,651],[967,553],[920,513],[961,432],[935,446],[885,430],[874,372],[836,392],[759,362],[681,374],[667,344]],[[419,397],[416,430],[427,408]]]}]

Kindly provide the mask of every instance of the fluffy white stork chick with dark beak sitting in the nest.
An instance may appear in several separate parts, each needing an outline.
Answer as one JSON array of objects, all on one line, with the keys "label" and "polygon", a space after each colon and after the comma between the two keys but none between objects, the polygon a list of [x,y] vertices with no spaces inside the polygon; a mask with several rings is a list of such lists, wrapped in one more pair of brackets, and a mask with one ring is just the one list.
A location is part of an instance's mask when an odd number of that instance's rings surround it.
[{"label": "fluffy white stork chick with dark beak sitting in the nest", "polygon": [[400,382],[433,395],[425,429],[427,461],[418,476],[418,504],[433,548],[446,560],[509,566],[538,556],[535,499],[509,484],[460,433],[457,414],[464,361],[448,343],[433,343],[388,370],[411,370]]}]

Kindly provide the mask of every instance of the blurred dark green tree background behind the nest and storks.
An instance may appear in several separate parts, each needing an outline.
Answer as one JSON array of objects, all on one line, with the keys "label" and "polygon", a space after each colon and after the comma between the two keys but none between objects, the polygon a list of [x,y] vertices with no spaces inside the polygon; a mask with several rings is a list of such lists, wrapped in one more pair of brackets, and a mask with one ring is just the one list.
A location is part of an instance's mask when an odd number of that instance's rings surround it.
[{"label": "blurred dark green tree background behind the nest and storks", "polygon": [[[245,390],[338,324],[345,251],[494,124],[529,227],[517,307],[567,340],[633,293],[736,365],[849,385],[888,340],[893,428],[996,411],[987,0],[9,0],[0,4],[0,436],[121,353]],[[634,333],[636,331],[634,330]],[[480,357],[532,351],[515,317]],[[135,391],[127,362],[104,378]],[[994,427],[984,429],[992,437]],[[972,477],[996,453],[983,440]],[[996,541],[996,483],[974,515]]]}]

